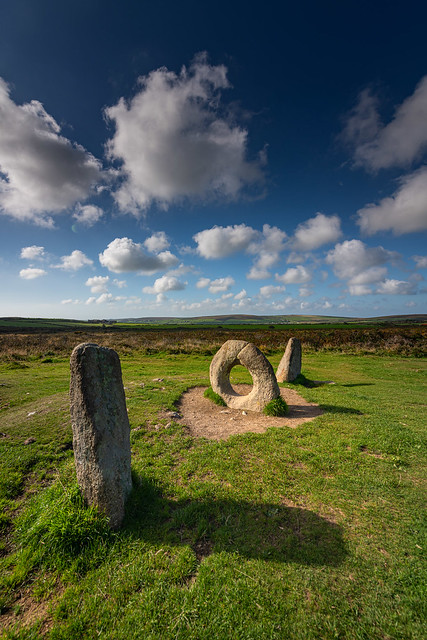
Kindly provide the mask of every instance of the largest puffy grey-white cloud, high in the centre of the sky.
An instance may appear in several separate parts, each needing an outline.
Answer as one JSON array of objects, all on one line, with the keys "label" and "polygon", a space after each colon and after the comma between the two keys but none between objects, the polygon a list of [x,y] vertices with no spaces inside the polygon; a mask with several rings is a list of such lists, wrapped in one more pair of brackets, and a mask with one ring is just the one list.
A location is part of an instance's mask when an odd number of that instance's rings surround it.
[{"label": "largest puffy grey-white cloud, high in the centre of the sky", "polygon": [[105,110],[116,128],[107,154],[122,162],[115,198],[123,211],[235,199],[262,178],[261,162],[246,158],[247,131],[220,112],[219,90],[230,86],[226,67],[199,55],[179,74],[161,68],[139,81],[130,101]]}]

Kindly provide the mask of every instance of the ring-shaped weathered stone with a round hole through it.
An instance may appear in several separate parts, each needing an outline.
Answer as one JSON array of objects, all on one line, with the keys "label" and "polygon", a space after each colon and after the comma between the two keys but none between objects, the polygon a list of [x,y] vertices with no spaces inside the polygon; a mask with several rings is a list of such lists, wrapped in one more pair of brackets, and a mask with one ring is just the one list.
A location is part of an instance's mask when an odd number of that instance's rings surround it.
[{"label": "ring-shaped weathered stone with a round hole through it", "polygon": [[[246,396],[237,393],[230,383],[230,371],[238,364],[248,369],[254,383]],[[261,412],[280,395],[273,367],[258,347],[245,340],[227,340],[213,357],[209,376],[212,389],[231,409]]]}]

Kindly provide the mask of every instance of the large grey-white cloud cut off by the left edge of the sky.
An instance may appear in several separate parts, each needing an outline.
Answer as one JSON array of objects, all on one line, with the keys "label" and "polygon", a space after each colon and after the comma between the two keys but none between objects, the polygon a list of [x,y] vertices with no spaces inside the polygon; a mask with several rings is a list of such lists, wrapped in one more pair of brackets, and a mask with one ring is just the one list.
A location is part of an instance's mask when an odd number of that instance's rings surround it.
[{"label": "large grey-white cloud cut off by the left edge of the sky", "polygon": [[84,200],[101,178],[101,165],[60,135],[43,105],[17,105],[0,78],[0,213],[45,227],[49,215]]}]

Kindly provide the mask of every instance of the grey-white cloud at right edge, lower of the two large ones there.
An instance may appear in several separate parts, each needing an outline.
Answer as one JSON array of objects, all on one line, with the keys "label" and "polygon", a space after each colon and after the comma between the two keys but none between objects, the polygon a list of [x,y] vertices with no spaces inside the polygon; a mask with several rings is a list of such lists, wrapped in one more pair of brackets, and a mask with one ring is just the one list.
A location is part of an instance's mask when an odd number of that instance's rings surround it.
[{"label": "grey-white cloud at right edge, lower of the two large ones there", "polygon": [[378,205],[368,204],[358,212],[358,224],[368,235],[393,231],[396,235],[427,229],[427,167],[400,180],[399,189]]}]

